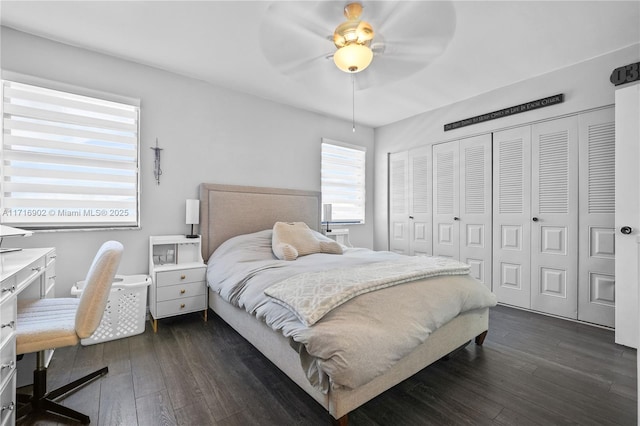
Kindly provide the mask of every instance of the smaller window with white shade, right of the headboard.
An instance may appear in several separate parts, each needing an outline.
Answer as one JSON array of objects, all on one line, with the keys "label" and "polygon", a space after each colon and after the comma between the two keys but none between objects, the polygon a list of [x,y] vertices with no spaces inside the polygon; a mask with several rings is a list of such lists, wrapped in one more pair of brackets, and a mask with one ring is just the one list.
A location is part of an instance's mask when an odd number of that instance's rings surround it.
[{"label": "smaller window with white shade, right of the headboard", "polygon": [[322,140],[322,204],[331,204],[331,223],[364,223],[366,153],[361,146]]}]

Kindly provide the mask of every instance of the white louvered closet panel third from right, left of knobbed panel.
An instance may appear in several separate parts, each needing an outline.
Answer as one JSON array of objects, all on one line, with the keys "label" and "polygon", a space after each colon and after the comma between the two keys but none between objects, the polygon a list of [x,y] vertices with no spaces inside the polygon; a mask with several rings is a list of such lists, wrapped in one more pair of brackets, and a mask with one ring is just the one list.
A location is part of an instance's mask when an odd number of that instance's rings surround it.
[{"label": "white louvered closet panel third from right, left of knobbed panel", "polygon": [[493,292],[531,307],[531,128],[493,134]]}]

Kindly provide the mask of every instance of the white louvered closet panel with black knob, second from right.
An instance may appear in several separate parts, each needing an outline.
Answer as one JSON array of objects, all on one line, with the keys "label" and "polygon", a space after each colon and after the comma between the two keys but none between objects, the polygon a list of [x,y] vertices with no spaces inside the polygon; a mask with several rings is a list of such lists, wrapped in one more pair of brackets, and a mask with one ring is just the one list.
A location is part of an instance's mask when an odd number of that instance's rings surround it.
[{"label": "white louvered closet panel with black knob, second from right", "polygon": [[532,126],[531,308],[578,317],[578,118]]}]

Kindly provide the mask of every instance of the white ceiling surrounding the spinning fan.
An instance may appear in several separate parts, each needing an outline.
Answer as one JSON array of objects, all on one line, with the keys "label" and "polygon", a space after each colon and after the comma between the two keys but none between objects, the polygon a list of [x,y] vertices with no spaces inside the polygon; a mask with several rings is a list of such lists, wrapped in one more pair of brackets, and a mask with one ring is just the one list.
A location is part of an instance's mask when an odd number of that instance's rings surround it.
[{"label": "white ceiling surrounding the spinning fan", "polygon": [[[20,31],[351,120],[350,76],[330,59],[317,62],[330,77],[312,81],[285,75],[267,60],[260,36],[271,3],[2,0],[0,15],[2,25]],[[344,20],[345,3],[335,3],[335,25]],[[379,127],[640,42],[639,1],[447,3],[453,37],[444,52],[411,76],[357,90],[358,123]],[[306,5],[313,22],[318,2]],[[374,24],[375,17],[365,18]],[[428,24],[424,16],[402,18],[414,27]]]}]

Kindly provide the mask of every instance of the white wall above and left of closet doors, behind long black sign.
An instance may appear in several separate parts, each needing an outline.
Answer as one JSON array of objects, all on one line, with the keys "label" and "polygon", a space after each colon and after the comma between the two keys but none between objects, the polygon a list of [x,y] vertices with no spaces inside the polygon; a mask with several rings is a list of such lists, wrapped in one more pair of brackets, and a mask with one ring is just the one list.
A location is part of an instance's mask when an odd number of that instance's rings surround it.
[{"label": "white wall above and left of closet doors, behind long black sign", "polygon": [[[456,140],[614,103],[609,81],[615,68],[637,62],[640,44],[516,83],[472,99],[426,112],[375,131],[374,248],[388,248],[387,154]],[[532,59],[533,60],[533,59]],[[444,125],[547,96],[564,93],[562,104],[448,132]]]}]

